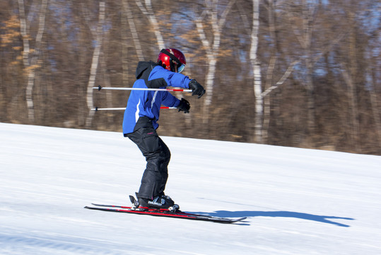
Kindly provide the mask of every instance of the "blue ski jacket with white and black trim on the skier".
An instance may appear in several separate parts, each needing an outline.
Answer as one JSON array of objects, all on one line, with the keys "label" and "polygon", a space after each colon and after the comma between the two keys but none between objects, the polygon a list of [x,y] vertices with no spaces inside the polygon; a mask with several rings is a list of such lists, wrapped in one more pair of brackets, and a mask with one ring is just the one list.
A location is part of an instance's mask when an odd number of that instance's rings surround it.
[{"label": "blue ski jacket with white and black trim on the skier", "polygon": [[[170,72],[155,62],[139,62],[133,88],[165,89],[166,86],[174,86],[189,89],[189,81],[189,77]],[[124,111],[122,125],[124,136],[135,131],[140,117],[149,118],[153,128],[157,129],[160,106],[177,107],[179,104],[180,100],[168,91],[131,91]]]}]

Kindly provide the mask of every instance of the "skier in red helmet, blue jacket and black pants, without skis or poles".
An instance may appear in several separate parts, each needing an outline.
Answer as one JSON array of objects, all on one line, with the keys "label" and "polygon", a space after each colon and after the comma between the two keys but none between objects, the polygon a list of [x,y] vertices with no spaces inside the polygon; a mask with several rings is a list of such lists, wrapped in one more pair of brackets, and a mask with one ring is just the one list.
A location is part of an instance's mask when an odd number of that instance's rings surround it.
[{"label": "skier in red helmet, blue jacket and black pants, without skis or poles", "polygon": [[[136,67],[134,88],[164,89],[167,86],[192,89],[192,96],[201,98],[205,89],[195,79],[180,74],[186,64],[185,56],[175,48],[160,50],[157,62],[139,62]],[[189,113],[189,102],[172,96],[168,91],[131,91],[124,111],[123,134],[134,142],[144,157],[146,169],[143,172],[139,192],[136,193],[139,206],[148,208],[170,208],[174,201],[165,196],[168,179],[170,150],[158,136],[160,106],[175,107]]]}]

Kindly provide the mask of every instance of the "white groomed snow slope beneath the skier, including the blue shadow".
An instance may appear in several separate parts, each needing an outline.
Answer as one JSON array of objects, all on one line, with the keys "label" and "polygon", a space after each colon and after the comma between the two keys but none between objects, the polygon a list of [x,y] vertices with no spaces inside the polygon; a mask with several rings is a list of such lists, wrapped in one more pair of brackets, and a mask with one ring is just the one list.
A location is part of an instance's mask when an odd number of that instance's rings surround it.
[{"label": "white groomed snow slope beneath the skier, including the blue shadow", "polygon": [[129,205],[145,161],[117,132],[0,123],[0,254],[381,254],[381,157],[162,137],[166,193],[223,225]]}]

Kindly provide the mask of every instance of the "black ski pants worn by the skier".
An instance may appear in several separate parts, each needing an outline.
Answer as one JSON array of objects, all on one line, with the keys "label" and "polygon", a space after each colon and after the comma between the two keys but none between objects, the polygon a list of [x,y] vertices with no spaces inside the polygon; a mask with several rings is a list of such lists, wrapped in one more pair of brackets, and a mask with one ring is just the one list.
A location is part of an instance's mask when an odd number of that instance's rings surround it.
[{"label": "black ski pants worn by the skier", "polygon": [[164,194],[168,179],[170,150],[152,127],[142,127],[127,137],[134,142],[146,157],[146,170],[141,179],[138,198],[153,199]]}]

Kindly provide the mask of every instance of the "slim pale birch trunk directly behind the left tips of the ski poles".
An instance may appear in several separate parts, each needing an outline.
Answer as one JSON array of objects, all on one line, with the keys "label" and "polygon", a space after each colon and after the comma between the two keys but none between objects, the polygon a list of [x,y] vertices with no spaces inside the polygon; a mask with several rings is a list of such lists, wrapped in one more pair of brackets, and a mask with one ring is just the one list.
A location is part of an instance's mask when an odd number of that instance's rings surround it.
[{"label": "slim pale birch trunk directly behind the left tips of the ski poles", "polygon": [[93,60],[91,61],[90,67],[90,77],[88,79],[88,89],[87,89],[87,105],[88,105],[88,118],[86,119],[86,128],[91,127],[93,121],[93,116],[95,111],[92,111],[91,108],[94,108],[93,101],[93,86],[95,86],[95,77],[97,75],[100,47],[102,46],[102,26],[105,21],[105,2],[101,1],[99,3],[99,18],[98,18],[98,28],[97,28],[97,37],[95,48],[93,52]]}]

